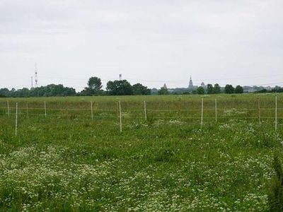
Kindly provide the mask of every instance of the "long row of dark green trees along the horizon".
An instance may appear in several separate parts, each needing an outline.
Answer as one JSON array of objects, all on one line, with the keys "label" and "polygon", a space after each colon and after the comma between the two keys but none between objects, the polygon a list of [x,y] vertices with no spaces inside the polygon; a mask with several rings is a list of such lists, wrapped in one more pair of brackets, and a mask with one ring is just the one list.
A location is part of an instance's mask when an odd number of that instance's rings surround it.
[{"label": "long row of dark green trees along the horizon", "polygon": [[[166,86],[163,86],[159,90],[153,88],[152,90],[142,85],[141,83],[135,83],[131,85],[127,80],[115,80],[108,81],[106,85],[106,90],[103,90],[103,85],[101,79],[97,76],[93,76],[88,79],[87,86],[81,90],[81,92],[76,92],[74,88],[64,87],[62,84],[55,85],[50,84],[48,86],[40,86],[37,88],[21,88],[16,90],[12,88],[0,89],[0,98],[21,98],[21,97],[50,97],[50,96],[91,96],[91,95],[168,95],[168,94],[217,94],[217,93],[243,93],[242,86],[236,86],[227,84],[224,88],[221,88],[218,83],[207,84],[207,86],[197,87],[195,90],[181,91],[179,93],[172,92],[168,90]],[[272,90],[258,90],[256,93],[280,93],[283,92],[283,88],[275,86]]]}]

